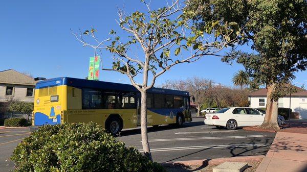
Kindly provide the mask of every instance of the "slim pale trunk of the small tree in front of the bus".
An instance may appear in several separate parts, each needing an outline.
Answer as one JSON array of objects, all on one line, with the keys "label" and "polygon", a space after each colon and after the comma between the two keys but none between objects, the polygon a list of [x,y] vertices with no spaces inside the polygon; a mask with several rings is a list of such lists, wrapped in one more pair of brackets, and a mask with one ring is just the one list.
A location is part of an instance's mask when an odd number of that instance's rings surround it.
[{"label": "slim pale trunk of the small tree in front of the bus", "polygon": [[147,91],[141,91],[141,136],[144,154],[152,161],[147,135]]}]

